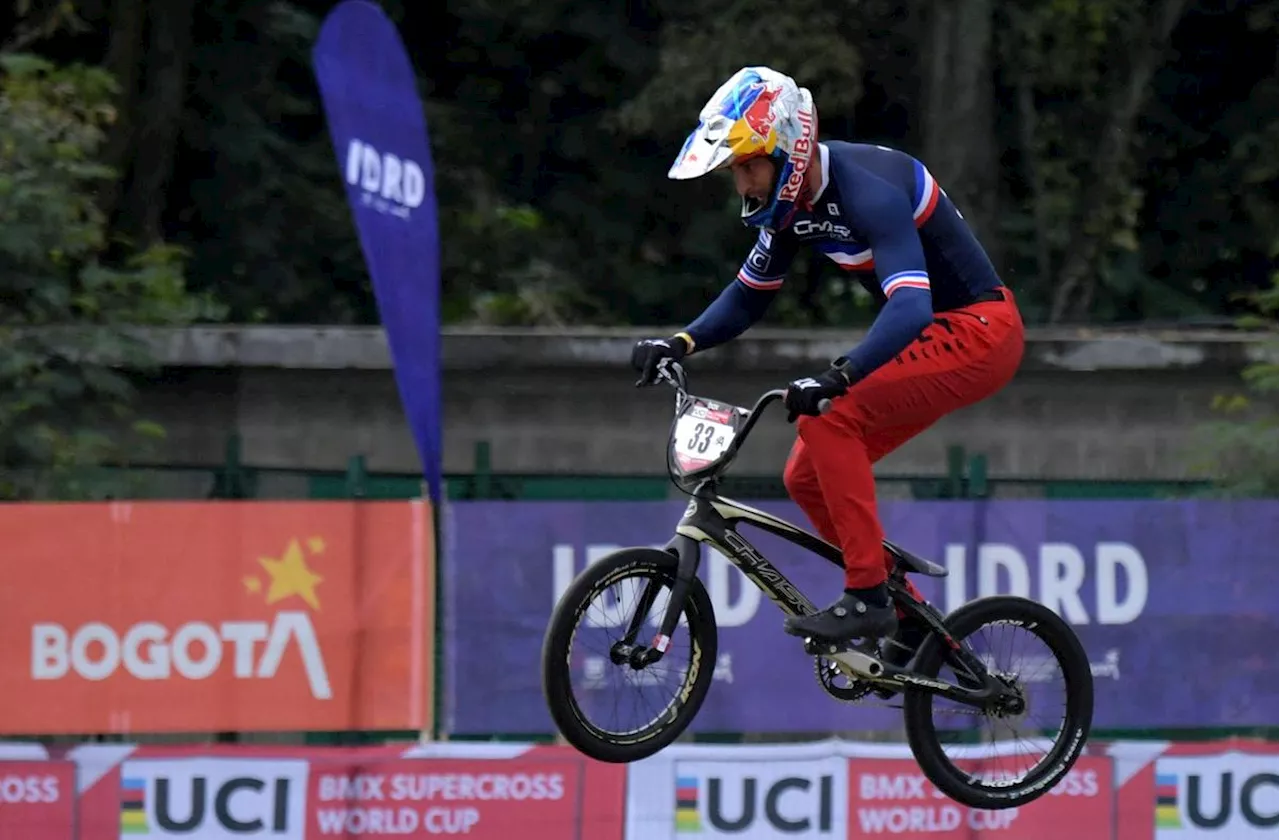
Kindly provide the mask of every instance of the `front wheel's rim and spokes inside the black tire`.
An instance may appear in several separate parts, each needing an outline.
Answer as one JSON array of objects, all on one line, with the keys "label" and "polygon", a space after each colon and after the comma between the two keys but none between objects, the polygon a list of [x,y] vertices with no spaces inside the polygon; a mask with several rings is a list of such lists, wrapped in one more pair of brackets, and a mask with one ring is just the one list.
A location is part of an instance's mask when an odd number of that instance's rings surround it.
[{"label": "front wheel's rim and spokes inside the black tire", "polygon": [[660,585],[636,634],[635,644],[649,645],[671,598],[671,579],[652,567],[620,569],[593,586],[575,611],[562,667],[567,670],[567,702],[579,721],[596,738],[634,744],[654,738],[687,702],[699,670],[705,666],[689,633],[692,607],[685,610],[660,661],[635,670],[616,663],[611,652],[623,639],[644,590]]}]

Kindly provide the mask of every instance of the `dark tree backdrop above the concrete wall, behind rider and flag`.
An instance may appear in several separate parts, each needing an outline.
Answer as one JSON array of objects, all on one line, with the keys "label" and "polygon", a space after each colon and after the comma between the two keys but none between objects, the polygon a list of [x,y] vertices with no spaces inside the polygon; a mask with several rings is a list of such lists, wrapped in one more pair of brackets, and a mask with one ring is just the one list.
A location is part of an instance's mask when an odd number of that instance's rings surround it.
[{"label": "dark tree backdrop above the concrete wall, behind rider and flag", "polygon": [[[27,5],[10,40],[120,79],[115,233],[188,248],[233,320],[375,320],[310,70],[333,0]],[[1222,320],[1280,262],[1280,0],[384,6],[421,76],[451,321],[691,316],[750,233],[726,179],[666,170],[753,63],[813,88],[827,137],[924,158],[1033,323]],[[870,318],[824,262],[771,320]]]}]

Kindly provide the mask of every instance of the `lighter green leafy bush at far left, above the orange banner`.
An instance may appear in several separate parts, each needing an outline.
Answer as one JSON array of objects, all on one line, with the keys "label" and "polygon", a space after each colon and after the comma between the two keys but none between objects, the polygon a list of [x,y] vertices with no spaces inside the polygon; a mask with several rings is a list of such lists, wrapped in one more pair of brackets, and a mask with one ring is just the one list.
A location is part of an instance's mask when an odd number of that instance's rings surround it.
[{"label": "lighter green leafy bush at far left, above the orange banner", "polygon": [[216,311],[187,293],[173,247],[102,260],[111,77],[20,54],[0,70],[0,498],[68,498],[83,467],[160,434],[132,412],[119,366],[146,369],[148,355],[122,325]]}]

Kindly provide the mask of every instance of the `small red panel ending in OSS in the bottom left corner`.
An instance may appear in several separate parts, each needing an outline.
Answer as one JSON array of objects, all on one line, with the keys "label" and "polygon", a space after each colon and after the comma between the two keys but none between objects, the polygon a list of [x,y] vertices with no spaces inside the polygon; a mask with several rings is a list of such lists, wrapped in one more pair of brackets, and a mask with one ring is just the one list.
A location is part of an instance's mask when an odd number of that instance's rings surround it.
[{"label": "small red panel ending in OSS in the bottom left corner", "polygon": [[0,761],[0,837],[76,836],[76,764]]}]

